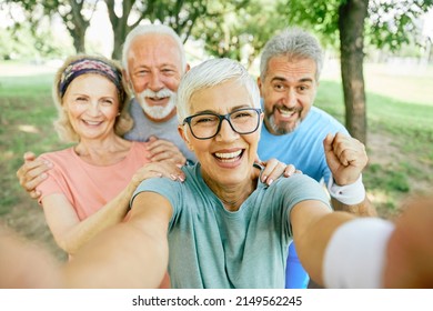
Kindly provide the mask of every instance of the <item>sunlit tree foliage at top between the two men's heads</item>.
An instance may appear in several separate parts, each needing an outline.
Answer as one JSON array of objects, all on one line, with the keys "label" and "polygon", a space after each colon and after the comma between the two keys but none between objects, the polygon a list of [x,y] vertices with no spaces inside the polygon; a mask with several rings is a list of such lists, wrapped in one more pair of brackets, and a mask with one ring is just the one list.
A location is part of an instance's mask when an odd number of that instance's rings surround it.
[{"label": "sunlit tree foliage at top between the two men's heads", "polygon": [[[204,42],[209,54],[243,61],[248,68],[268,39],[288,26],[273,0],[215,1],[208,10],[208,18],[197,22],[192,37]],[[216,10],[219,13],[212,14]]]}]

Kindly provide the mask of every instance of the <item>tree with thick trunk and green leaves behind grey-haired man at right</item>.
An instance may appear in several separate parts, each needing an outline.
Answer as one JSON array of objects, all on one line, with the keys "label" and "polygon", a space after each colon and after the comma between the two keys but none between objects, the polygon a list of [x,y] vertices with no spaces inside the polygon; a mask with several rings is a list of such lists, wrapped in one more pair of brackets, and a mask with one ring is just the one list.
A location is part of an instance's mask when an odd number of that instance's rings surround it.
[{"label": "tree with thick trunk and green leaves behind grey-haired man at right", "polygon": [[[283,0],[290,22],[310,27],[324,41],[340,41],[346,128],[366,144],[364,43],[399,49],[432,0]],[[339,39],[339,40],[336,40]]]}]

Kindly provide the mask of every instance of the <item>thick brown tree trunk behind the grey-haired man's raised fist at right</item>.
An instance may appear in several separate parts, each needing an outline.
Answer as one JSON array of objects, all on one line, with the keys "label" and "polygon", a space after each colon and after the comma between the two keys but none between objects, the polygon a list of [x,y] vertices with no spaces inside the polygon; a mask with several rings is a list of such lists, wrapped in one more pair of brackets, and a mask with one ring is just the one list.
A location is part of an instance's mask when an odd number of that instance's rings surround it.
[{"label": "thick brown tree trunk behind the grey-haired man's raised fist at right", "polygon": [[364,20],[369,0],[346,0],[340,6],[339,30],[345,126],[366,144],[366,106],[363,76]]}]

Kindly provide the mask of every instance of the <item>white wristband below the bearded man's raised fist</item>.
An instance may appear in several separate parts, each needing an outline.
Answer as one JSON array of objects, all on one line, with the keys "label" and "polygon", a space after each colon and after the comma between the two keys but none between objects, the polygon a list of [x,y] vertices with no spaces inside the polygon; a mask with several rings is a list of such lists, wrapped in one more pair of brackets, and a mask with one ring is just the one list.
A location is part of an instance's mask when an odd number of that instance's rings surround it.
[{"label": "white wristband below the bearded man's raised fist", "polygon": [[346,205],[359,204],[365,199],[365,188],[362,183],[362,174],[355,182],[346,185],[336,184],[331,175],[328,182],[328,191],[330,191],[332,198]]}]

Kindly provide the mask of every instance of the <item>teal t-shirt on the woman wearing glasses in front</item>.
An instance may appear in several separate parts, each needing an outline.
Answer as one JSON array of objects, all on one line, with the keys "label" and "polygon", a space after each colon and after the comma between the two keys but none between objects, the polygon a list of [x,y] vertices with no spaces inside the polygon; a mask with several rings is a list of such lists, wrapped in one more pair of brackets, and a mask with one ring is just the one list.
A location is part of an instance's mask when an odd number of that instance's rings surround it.
[{"label": "teal t-shirt on the woman wearing glasses in front", "polygon": [[200,163],[182,170],[183,183],[149,179],[132,197],[157,192],[173,208],[168,233],[172,288],[284,288],[290,210],[303,200],[329,204],[322,187],[304,174],[280,178],[270,187],[259,181],[240,209],[230,212],[204,183]]}]

